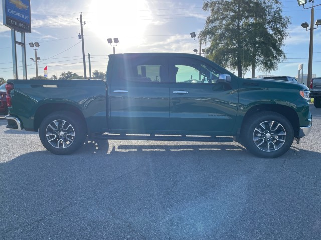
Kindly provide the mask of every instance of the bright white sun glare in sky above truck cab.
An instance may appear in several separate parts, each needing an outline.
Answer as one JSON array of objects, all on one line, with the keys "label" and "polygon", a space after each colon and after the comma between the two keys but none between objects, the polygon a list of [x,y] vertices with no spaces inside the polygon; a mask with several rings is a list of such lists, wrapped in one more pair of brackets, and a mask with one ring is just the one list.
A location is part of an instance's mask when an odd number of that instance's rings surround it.
[{"label": "bright white sun glare in sky above truck cab", "polygon": [[110,38],[144,33],[149,20],[146,0],[92,0],[90,28],[96,35]]}]

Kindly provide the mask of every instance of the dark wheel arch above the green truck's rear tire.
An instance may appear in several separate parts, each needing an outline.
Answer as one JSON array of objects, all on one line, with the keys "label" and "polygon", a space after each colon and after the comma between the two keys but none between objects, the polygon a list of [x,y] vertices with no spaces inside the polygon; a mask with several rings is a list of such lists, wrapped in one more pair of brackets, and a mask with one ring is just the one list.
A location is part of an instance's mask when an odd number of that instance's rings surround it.
[{"label": "dark wheel arch above the green truck's rear tire", "polygon": [[[73,106],[71,104],[66,104],[66,103],[48,103],[40,106],[34,116],[34,130],[38,131],[39,126],[43,119],[48,116],[49,114],[56,112],[56,111],[69,111],[74,114],[76,114],[79,119],[83,121],[84,124],[86,124],[86,119],[81,112],[79,108],[76,106]],[[87,126],[86,126],[87,129]],[[87,129],[88,132],[88,129]]]}]

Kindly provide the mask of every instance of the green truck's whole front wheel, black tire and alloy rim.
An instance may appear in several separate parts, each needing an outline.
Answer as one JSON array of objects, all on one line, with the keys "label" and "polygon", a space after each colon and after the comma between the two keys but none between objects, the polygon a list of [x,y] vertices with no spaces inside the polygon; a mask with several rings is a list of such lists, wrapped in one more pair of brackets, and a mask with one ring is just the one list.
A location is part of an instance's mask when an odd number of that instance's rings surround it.
[{"label": "green truck's whole front wheel, black tire and alloy rim", "polygon": [[252,115],[245,122],[241,137],[252,154],[263,158],[275,158],[290,149],[294,130],[283,115],[264,111]]}]

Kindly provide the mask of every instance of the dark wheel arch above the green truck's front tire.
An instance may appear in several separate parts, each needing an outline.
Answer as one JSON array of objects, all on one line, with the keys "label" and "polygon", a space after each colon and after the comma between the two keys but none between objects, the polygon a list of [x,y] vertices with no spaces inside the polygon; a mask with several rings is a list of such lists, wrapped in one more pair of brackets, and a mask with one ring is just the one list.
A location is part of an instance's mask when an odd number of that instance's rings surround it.
[{"label": "dark wheel arch above the green truck's front tire", "polygon": [[300,130],[299,117],[296,114],[295,110],[289,106],[276,105],[276,104],[262,104],[262,105],[257,105],[250,108],[244,115],[244,118],[241,124],[241,129],[239,130],[240,134],[245,122],[248,119],[250,119],[251,116],[253,116],[255,113],[262,112],[262,111],[272,111],[283,115],[292,124],[293,130],[294,130],[294,136],[297,136],[299,134],[299,130]]}]

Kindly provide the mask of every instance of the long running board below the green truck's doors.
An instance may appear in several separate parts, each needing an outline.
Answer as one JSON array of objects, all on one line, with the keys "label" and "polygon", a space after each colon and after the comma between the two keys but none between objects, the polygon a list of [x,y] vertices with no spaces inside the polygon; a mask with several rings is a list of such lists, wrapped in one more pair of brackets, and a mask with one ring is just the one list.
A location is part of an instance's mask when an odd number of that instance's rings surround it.
[{"label": "long running board below the green truck's doors", "polygon": [[226,136],[195,136],[195,135],[149,135],[149,134],[95,134],[93,138],[107,140],[145,140],[145,141],[205,141],[233,142],[233,137]]}]

